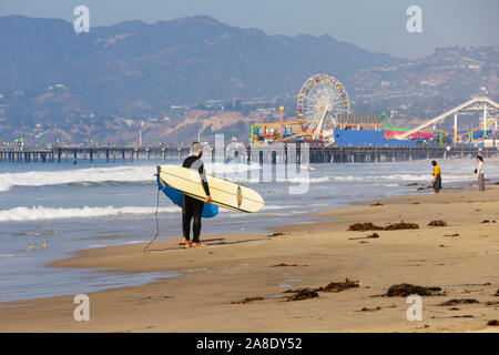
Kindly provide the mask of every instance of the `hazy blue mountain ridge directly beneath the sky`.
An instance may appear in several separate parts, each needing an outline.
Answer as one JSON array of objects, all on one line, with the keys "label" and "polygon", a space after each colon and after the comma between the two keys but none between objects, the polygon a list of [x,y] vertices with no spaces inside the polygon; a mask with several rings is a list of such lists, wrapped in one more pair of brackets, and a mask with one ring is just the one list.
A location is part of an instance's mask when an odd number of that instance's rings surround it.
[{"label": "hazy blue mountain ridge directly beneath the sky", "polygon": [[79,34],[63,20],[11,16],[0,18],[0,31],[9,33],[0,37],[0,91],[35,97],[62,83],[75,110],[156,111],[172,103],[273,97],[297,91],[316,72],[346,78],[401,62],[329,36],[267,36],[206,16],[126,21]]}]

